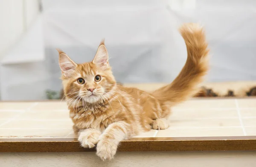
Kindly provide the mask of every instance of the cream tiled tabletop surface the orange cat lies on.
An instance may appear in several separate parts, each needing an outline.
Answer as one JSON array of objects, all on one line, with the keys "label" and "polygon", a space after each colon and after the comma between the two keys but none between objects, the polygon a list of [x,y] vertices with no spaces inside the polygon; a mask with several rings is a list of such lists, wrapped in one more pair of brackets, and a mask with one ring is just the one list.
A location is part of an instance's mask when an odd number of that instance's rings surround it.
[{"label": "cream tiled tabletop surface the orange cat lies on", "polygon": [[[169,122],[137,137],[255,136],[256,99],[192,99]],[[0,102],[0,137],[73,138],[66,102]]]}]

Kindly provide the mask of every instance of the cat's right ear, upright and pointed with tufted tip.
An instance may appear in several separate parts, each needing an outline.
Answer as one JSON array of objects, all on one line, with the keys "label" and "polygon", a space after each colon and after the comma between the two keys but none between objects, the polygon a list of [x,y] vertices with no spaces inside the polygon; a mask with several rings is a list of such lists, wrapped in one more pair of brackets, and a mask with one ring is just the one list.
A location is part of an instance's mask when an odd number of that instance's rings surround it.
[{"label": "cat's right ear, upright and pointed with tufted tip", "polygon": [[95,65],[98,65],[103,70],[109,68],[108,51],[107,51],[107,48],[105,47],[104,40],[102,40],[99,44],[99,48],[93,59],[93,63]]}]

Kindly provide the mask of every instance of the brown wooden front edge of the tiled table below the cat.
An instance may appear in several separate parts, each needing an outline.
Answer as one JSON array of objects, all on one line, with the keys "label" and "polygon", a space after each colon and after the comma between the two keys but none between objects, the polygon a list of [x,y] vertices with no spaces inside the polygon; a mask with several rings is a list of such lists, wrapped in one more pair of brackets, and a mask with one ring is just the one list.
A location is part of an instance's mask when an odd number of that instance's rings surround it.
[{"label": "brown wooden front edge of the tiled table below the cat", "polygon": [[[256,136],[132,138],[118,151],[256,150]],[[0,139],[0,152],[89,152],[74,138]]]}]

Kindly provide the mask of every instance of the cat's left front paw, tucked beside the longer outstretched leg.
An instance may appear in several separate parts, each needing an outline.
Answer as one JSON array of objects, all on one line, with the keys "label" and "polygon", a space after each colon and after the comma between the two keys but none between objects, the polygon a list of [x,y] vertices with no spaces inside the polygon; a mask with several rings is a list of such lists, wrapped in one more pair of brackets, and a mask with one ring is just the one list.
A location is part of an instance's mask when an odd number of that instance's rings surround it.
[{"label": "cat's left front paw, tucked beside the longer outstretched leg", "polygon": [[78,141],[84,148],[93,148],[99,142],[101,132],[96,129],[82,129],[79,131]]}]

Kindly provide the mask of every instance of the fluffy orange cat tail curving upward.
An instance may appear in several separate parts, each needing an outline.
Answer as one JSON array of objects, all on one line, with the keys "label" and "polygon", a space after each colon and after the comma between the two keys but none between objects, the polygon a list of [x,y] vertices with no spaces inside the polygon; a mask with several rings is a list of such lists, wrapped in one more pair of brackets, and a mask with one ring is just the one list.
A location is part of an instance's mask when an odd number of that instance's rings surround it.
[{"label": "fluffy orange cat tail curving upward", "polygon": [[203,28],[186,23],[179,29],[187,48],[186,64],[175,80],[153,92],[160,102],[175,105],[193,96],[208,71],[208,48]]}]

